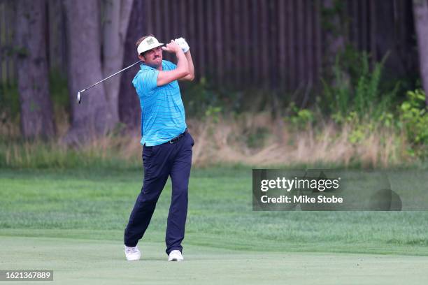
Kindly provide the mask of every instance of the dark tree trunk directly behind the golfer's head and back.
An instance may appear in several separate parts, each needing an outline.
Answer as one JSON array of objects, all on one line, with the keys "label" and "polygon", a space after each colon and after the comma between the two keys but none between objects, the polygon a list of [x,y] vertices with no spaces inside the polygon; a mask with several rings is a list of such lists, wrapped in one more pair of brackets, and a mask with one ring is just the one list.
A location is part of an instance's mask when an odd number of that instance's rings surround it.
[{"label": "dark tree trunk directly behind the golfer's head and back", "polygon": [[[126,41],[124,43],[124,66],[129,66],[138,61],[135,43],[138,38],[144,36],[144,20],[141,16],[144,15],[143,8],[143,1],[134,1],[129,19],[129,27],[132,27],[132,29],[128,29]],[[134,78],[139,68],[140,66],[137,65],[125,71],[120,80],[120,122],[126,124],[128,129],[136,129],[140,126],[141,123],[140,101],[138,100],[135,88],[132,85],[132,79]]]}]

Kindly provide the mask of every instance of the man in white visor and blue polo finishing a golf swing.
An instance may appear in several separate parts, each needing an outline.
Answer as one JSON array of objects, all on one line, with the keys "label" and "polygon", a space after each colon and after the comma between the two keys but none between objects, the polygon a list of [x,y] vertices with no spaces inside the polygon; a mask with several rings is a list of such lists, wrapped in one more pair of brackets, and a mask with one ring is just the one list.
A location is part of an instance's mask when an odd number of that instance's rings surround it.
[{"label": "man in white visor and blue polo finishing a golf swing", "polygon": [[[150,35],[137,43],[138,58],[143,61],[134,85],[141,105],[141,144],[143,145],[144,182],[124,231],[128,261],[141,257],[138,240],[155,211],[157,199],[171,177],[172,197],[166,226],[168,261],[183,261],[181,242],[185,235],[187,189],[192,165],[194,140],[187,132],[185,110],[177,80],[193,80],[194,66],[185,39],[159,43]],[[162,51],[176,54],[177,65],[162,60]]]}]

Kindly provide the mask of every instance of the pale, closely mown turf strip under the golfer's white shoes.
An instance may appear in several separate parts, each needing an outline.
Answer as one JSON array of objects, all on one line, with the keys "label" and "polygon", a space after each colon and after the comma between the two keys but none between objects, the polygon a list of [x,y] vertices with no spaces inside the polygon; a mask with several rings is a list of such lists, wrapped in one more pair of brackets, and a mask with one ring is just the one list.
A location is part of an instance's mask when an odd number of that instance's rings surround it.
[{"label": "pale, closely mown turf strip under the golfer's white shoes", "polygon": [[0,240],[1,269],[54,270],[54,281],[43,284],[422,285],[428,282],[425,256],[276,253],[190,245],[184,251],[183,263],[168,263],[163,244],[144,242],[140,246],[143,259],[127,262],[122,244],[115,241],[17,237]]}]

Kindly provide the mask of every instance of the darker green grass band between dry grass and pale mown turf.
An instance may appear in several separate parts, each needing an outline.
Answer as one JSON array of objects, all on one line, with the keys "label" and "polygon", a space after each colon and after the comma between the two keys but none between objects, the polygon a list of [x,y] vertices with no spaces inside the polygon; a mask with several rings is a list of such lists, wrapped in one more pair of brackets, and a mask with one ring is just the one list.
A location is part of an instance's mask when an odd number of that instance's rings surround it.
[{"label": "darker green grass band between dry grass and pale mown turf", "polygon": [[[423,188],[401,170],[394,187]],[[195,169],[185,244],[261,251],[428,256],[428,212],[253,212],[250,168]],[[141,189],[141,171],[1,170],[0,235],[116,240]],[[162,242],[167,184],[144,241]]]}]

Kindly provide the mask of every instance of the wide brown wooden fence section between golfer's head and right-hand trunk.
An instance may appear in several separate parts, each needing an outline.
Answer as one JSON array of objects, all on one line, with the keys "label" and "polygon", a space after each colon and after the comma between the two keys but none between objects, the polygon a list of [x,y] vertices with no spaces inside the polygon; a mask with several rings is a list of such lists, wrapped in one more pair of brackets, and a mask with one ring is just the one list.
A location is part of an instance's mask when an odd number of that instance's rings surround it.
[{"label": "wide brown wooden fence section between golfer's head and right-hand trunk", "polygon": [[148,0],[145,9],[145,34],[185,37],[197,74],[220,87],[294,89],[320,73],[319,1]]}]

